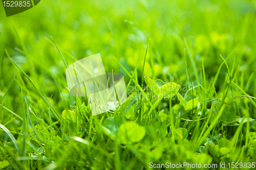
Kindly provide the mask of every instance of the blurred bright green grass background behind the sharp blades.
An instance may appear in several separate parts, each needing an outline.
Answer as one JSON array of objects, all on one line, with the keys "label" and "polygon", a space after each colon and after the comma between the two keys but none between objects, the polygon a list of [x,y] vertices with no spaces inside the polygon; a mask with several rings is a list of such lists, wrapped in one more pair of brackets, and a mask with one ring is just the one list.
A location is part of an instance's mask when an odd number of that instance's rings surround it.
[{"label": "blurred bright green grass background behind the sharp blades", "polygon": [[[126,75],[113,59],[116,57],[129,71],[138,64],[139,78],[150,39],[155,77],[165,82],[187,84],[186,61],[197,84],[195,70],[200,75],[203,61],[206,80],[210,83],[223,61],[219,54],[226,58],[238,44],[236,52],[227,60],[230,67],[237,55],[238,77],[243,74],[245,84],[256,68],[256,1],[42,0],[32,9],[10,17],[5,16],[3,5],[0,6],[2,86],[9,84],[15,71],[4,53],[6,48],[48,98],[54,94],[56,103],[60,98],[68,98],[69,93],[64,87],[67,86],[66,67],[50,36],[68,65],[100,53],[106,72],[113,69]],[[30,75],[30,65],[13,26],[26,45],[37,77]],[[226,72],[223,67],[217,90]],[[152,77],[149,54],[144,74]],[[127,76],[125,78],[129,81]],[[249,91],[256,96],[252,88],[250,86]],[[18,101],[16,94],[20,87],[14,83],[12,89],[12,100]],[[61,91],[63,95],[59,95]]]}]

